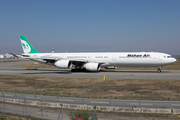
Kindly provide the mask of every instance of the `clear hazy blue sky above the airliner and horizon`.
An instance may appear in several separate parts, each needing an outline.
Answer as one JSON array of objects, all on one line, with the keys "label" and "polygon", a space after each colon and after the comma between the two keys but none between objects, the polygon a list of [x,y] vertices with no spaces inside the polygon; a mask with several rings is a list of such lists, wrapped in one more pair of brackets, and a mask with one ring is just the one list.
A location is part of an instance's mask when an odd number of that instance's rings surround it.
[{"label": "clear hazy blue sky above the airliner and horizon", "polygon": [[180,54],[180,0],[1,0],[0,53],[22,53],[25,35],[39,52]]}]

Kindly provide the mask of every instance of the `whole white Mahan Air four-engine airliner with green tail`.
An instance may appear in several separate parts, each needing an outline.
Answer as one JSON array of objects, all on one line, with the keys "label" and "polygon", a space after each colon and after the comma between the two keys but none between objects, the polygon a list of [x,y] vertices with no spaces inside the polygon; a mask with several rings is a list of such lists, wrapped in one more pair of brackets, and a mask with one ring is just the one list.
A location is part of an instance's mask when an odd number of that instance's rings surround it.
[{"label": "whole white Mahan Air four-engine airliner with green tail", "polygon": [[39,53],[25,36],[20,36],[24,54],[31,60],[52,64],[58,68],[99,71],[101,67],[115,69],[116,66],[157,66],[161,72],[163,65],[176,61],[169,54],[159,52],[94,52],[94,53]]}]

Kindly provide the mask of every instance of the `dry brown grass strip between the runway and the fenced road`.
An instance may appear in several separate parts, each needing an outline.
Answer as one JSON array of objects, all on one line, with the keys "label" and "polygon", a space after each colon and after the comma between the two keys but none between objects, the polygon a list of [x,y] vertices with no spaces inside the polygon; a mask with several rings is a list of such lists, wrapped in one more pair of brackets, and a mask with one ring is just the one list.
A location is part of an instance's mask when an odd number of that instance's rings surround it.
[{"label": "dry brown grass strip between the runway and the fenced road", "polygon": [[33,76],[0,75],[0,91],[14,93],[14,82],[18,93],[34,94],[34,83],[39,95],[57,95],[56,84],[59,85],[59,96],[82,97],[84,84],[84,97],[109,98],[109,85],[111,85],[111,98],[124,100],[138,100],[141,86],[142,100],[169,100],[170,86],[172,86],[172,100],[180,100],[179,80],[121,80],[95,78],[57,78]]}]

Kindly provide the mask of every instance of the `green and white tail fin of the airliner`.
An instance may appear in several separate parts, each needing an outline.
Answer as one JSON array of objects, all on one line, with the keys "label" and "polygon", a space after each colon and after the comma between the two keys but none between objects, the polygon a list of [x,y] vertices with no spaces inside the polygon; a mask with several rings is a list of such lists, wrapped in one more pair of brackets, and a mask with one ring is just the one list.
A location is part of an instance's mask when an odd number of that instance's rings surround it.
[{"label": "green and white tail fin of the airliner", "polygon": [[33,46],[29,43],[25,36],[20,36],[20,40],[25,54],[39,53],[33,48]]}]

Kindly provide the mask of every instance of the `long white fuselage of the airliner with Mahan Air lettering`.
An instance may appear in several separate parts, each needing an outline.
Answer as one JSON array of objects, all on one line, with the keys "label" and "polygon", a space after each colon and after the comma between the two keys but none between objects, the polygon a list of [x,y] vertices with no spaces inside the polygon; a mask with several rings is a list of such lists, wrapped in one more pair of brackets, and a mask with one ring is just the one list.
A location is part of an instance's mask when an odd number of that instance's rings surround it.
[{"label": "long white fuselage of the airliner with Mahan Air lettering", "polygon": [[101,63],[101,66],[163,66],[176,61],[169,54],[159,52],[97,52],[97,53],[36,53],[30,59],[45,63],[44,58]]}]

